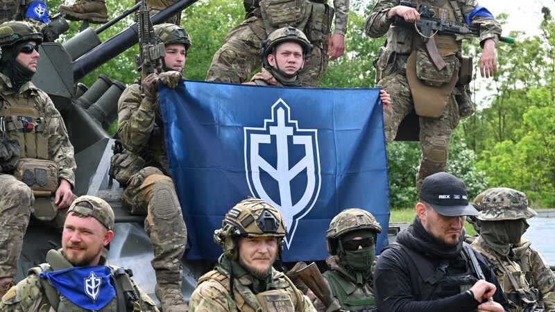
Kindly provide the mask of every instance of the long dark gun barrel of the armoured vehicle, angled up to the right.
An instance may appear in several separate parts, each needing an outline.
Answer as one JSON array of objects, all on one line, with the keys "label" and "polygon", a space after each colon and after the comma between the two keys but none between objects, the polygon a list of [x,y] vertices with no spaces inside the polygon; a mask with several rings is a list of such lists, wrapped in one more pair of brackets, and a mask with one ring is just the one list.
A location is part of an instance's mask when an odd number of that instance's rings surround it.
[{"label": "long dark gun barrel of the armoured vehicle, angled up to the right", "polygon": [[[154,25],[162,24],[164,21],[176,15],[178,12],[185,10],[185,8],[188,8],[196,1],[197,0],[180,0],[173,3],[156,15],[153,15],[153,17],[151,17],[152,23]],[[96,46],[96,48],[89,51],[89,53],[75,60],[73,63],[74,81],[82,79],[87,73],[94,71],[94,69],[99,68],[105,62],[112,60],[117,55],[123,53],[123,51],[137,44],[137,42],[139,42],[139,36],[137,23],[135,23],[126,28],[126,30],[110,38],[110,40]]]}]

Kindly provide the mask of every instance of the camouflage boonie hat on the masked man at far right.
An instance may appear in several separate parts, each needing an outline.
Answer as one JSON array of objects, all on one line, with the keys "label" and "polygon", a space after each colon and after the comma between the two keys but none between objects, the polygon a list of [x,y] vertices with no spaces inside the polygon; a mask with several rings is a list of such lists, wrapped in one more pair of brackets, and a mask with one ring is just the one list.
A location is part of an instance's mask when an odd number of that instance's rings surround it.
[{"label": "camouflage boonie hat on the masked man at far right", "polygon": [[481,200],[481,209],[477,218],[483,221],[529,219],[538,215],[528,207],[526,194],[506,187],[490,189]]}]

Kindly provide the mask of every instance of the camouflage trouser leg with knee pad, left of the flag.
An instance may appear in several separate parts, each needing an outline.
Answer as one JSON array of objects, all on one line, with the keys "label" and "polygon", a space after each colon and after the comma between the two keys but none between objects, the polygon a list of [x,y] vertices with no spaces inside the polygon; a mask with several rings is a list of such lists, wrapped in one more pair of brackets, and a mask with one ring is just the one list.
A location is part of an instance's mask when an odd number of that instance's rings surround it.
[{"label": "camouflage trouser leg with knee pad, left of the flag", "polygon": [[151,265],[158,284],[180,286],[187,228],[173,181],[154,167],[143,168],[131,177],[121,195],[131,214],[146,216],[144,229],[151,239]]}]

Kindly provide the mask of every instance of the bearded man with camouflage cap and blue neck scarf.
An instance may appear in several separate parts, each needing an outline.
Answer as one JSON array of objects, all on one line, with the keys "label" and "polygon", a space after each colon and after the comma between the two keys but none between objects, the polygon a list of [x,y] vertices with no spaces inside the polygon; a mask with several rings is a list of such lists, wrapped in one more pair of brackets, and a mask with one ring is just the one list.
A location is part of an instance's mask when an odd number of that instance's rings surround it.
[{"label": "bearded man with camouflage cap and blue neck scarf", "polygon": [[101,198],[81,196],[67,211],[62,248],[2,297],[0,311],[158,311],[126,270],[102,255],[114,232],[114,211]]}]

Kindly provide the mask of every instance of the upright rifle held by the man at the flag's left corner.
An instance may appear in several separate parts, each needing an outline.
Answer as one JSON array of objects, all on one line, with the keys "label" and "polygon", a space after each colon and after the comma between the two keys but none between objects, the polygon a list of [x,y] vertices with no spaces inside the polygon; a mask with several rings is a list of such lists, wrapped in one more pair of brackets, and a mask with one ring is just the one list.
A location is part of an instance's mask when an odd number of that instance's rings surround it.
[{"label": "upright rifle held by the man at the flag's left corner", "polygon": [[135,55],[135,64],[137,70],[141,71],[141,78],[144,80],[146,76],[157,70],[162,72],[162,58],[166,56],[164,44],[156,43],[154,27],[151,22],[151,16],[146,8],[146,1],[141,1],[141,8],[137,12],[137,26],[139,31],[139,55]]}]

